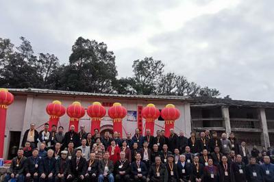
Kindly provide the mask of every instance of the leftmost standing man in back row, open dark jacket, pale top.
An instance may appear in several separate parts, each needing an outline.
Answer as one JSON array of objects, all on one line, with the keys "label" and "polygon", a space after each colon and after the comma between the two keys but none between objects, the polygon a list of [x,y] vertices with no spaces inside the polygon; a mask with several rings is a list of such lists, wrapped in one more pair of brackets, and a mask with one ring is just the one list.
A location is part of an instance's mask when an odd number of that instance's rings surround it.
[{"label": "leftmost standing man in back row, open dark jacket, pale top", "polygon": [[35,124],[30,124],[30,128],[25,131],[21,146],[25,146],[25,142],[30,142],[32,148],[37,148],[39,133],[35,129]]}]

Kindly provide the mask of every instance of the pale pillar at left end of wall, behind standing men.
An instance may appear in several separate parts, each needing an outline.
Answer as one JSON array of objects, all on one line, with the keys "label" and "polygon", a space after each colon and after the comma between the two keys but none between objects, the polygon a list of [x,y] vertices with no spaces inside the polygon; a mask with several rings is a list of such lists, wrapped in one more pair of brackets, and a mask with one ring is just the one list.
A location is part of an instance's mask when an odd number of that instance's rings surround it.
[{"label": "pale pillar at left end of wall, behind standing men", "polygon": [[[24,114],[23,129],[21,132],[20,146],[21,146],[21,142],[23,140],[24,133],[27,129],[29,129],[29,125],[32,122],[32,103],[33,103],[33,101],[34,101],[34,96],[27,95],[27,102],[25,105],[25,114]],[[36,123],[36,127],[38,127],[37,123]]]}]

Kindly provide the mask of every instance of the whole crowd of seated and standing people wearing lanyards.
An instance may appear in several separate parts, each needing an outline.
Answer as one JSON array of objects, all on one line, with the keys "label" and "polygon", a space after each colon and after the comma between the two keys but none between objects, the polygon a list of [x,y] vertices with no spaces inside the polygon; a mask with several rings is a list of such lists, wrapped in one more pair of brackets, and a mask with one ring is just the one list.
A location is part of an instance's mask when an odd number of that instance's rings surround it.
[{"label": "whole crowd of seated and standing people wearing lanyards", "polygon": [[25,131],[22,148],[12,159],[5,181],[274,181],[273,151],[251,153],[234,133],[218,137],[216,132],[191,132],[186,138],[170,130],[143,136],[139,129],[121,139],[97,129],[94,135],[85,127],[75,132],[46,123],[36,131],[35,124]]}]

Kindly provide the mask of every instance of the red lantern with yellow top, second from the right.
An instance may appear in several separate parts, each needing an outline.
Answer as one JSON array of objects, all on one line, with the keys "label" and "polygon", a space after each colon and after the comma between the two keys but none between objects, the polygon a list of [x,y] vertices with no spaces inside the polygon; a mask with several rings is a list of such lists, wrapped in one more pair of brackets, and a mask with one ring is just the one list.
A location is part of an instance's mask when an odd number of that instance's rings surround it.
[{"label": "red lantern with yellow top, second from the right", "polygon": [[148,104],[147,107],[142,109],[142,117],[146,120],[146,130],[150,129],[151,135],[154,135],[154,120],[158,119],[159,116],[159,109],[157,109],[152,103]]}]

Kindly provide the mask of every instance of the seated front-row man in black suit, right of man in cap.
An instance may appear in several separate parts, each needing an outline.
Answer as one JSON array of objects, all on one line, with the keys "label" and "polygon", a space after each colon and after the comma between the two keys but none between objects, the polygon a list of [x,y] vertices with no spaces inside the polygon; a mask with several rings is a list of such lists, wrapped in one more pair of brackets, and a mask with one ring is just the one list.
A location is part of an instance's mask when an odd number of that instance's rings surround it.
[{"label": "seated front-row man in black suit, right of man in cap", "polygon": [[77,148],[76,157],[71,159],[71,165],[69,166],[69,175],[66,178],[68,181],[84,181],[86,174],[86,159],[82,157],[82,150]]}]

